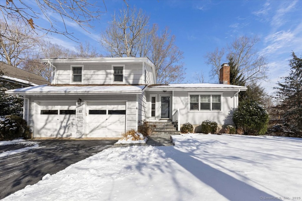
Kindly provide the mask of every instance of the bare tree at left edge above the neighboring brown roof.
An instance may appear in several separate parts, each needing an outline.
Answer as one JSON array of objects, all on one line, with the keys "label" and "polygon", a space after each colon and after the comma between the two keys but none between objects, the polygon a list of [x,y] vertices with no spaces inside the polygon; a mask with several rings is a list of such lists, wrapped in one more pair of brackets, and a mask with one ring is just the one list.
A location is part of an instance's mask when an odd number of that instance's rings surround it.
[{"label": "bare tree at left edge above the neighboring brown roof", "polygon": [[17,67],[24,60],[37,55],[37,42],[38,37],[18,21],[0,21],[1,61],[8,65]]}]

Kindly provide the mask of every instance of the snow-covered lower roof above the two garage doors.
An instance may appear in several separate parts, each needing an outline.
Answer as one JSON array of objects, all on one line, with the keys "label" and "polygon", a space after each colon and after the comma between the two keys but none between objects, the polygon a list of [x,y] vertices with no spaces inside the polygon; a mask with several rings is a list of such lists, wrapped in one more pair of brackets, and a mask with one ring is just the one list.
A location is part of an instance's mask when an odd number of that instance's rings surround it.
[{"label": "snow-covered lower roof above the two garage doors", "polygon": [[146,85],[39,85],[5,91],[19,95],[141,94]]}]

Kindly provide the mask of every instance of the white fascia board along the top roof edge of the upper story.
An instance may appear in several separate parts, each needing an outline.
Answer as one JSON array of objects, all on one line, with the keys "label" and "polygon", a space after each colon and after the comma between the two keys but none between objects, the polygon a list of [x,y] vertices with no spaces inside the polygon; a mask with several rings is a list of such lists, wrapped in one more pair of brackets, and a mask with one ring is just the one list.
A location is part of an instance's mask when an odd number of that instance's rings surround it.
[{"label": "white fascia board along the top roof edge of the upper story", "polygon": [[118,58],[41,58],[41,62],[55,63],[94,63],[94,62],[147,62],[154,67],[148,57],[118,57]]}]

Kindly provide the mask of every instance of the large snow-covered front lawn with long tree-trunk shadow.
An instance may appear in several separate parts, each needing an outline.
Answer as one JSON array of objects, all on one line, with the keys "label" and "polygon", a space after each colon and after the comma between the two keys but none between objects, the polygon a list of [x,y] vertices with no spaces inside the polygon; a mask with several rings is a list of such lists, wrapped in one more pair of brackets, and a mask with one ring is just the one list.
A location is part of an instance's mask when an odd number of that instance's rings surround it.
[{"label": "large snow-covered front lawn with long tree-trunk shadow", "polygon": [[301,200],[302,139],[188,134],[109,148],[4,200]]}]

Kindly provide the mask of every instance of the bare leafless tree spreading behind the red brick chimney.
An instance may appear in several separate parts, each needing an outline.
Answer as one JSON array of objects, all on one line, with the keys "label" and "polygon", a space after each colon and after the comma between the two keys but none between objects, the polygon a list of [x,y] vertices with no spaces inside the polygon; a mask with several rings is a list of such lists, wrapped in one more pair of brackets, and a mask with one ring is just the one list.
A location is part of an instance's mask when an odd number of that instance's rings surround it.
[{"label": "bare leafless tree spreading behind the red brick chimney", "polygon": [[208,52],[204,58],[206,64],[212,66],[212,77],[219,78],[219,69],[222,61],[229,61],[233,59],[234,66],[242,73],[242,78],[245,83],[257,80],[266,80],[267,76],[267,62],[263,55],[259,55],[255,49],[256,43],[259,42],[258,37],[238,37],[233,43],[227,45],[227,52],[225,54],[224,48],[219,50],[216,48],[213,52]]}]

